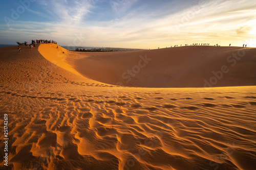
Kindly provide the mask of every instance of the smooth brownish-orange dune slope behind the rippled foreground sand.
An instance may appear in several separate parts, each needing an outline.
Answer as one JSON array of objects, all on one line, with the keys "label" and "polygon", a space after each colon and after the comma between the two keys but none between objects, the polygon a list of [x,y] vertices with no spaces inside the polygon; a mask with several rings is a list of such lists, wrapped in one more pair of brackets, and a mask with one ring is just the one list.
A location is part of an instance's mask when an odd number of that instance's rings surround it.
[{"label": "smooth brownish-orange dune slope behind the rippled foreground sand", "polygon": [[[61,58],[61,50],[56,48],[54,50],[49,44],[44,44],[44,49],[42,52],[40,49],[39,51],[47,59],[57,61]],[[48,55],[45,55],[46,51]],[[71,65],[84,77],[113,85],[132,87],[256,85],[256,48],[182,46],[114,53],[67,52],[64,55],[66,58],[63,63]]]}]

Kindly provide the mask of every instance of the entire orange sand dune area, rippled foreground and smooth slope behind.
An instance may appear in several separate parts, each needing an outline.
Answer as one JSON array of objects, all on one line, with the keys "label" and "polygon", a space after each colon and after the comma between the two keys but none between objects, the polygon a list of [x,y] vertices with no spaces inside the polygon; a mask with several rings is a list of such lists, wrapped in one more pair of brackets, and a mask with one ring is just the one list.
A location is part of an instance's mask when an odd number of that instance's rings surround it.
[{"label": "entire orange sand dune area, rippled foreground and smooth slope behind", "polygon": [[255,48],[21,47],[0,48],[1,169],[255,169]]}]

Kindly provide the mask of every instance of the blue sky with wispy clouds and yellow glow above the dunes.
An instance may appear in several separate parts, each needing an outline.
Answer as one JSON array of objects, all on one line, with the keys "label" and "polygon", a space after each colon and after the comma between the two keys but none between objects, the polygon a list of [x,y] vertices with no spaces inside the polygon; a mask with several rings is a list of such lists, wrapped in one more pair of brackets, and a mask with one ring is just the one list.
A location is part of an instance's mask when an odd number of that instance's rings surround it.
[{"label": "blue sky with wispy clouds and yellow glow above the dunes", "polygon": [[0,44],[256,47],[255,0],[8,0],[0,8]]}]

